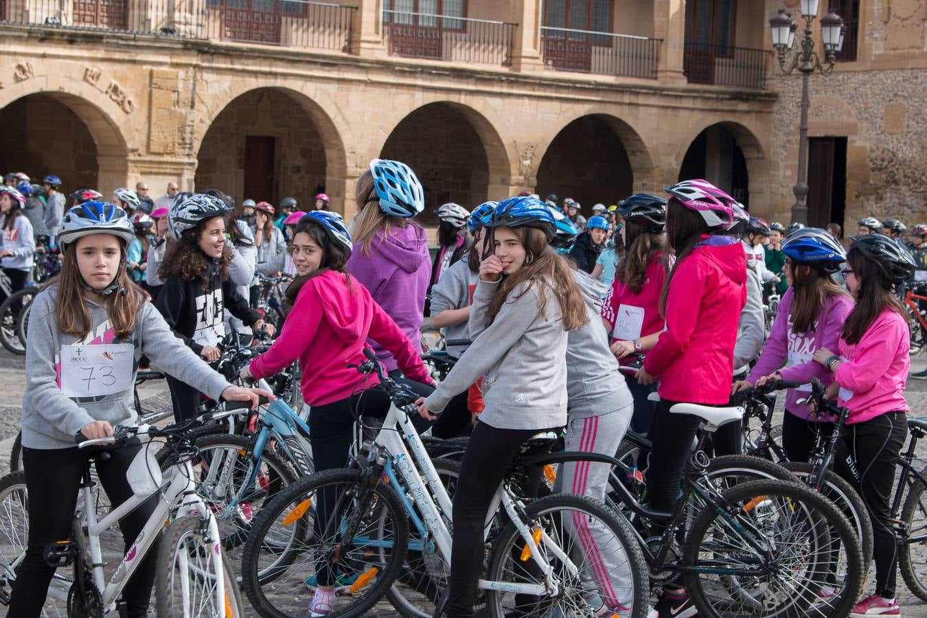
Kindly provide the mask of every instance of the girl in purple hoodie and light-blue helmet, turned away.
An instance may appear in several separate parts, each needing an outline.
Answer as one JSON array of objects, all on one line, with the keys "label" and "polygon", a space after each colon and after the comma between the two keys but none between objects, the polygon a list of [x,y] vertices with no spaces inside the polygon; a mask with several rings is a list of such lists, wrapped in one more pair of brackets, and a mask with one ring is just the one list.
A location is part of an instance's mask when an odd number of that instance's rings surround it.
[{"label": "girl in purple hoodie and light-blue helmet, turned away", "polygon": [[[375,158],[358,179],[355,197],[358,214],[349,225],[354,248],[348,270],[421,347],[431,277],[428,238],[414,221],[425,208],[422,184],[405,163]],[[396,359],[371,345],[387,371],[397,375]]]}]

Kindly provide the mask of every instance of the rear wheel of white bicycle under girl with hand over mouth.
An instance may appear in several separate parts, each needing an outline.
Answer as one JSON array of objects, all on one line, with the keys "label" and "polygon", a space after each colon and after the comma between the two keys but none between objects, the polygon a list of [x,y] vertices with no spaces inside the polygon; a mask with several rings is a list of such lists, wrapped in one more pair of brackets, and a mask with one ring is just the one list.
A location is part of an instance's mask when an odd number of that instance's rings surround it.
[{"label": "rear wheel of white bicycle under girl with hand over mouth", "polygon": [[551,574],[540,573],[525,539],[509,522],[493,543],[487,579],[545,588],[555,578],[556,591],[534,596],[489,589],[489,616],[594,616],[619,609],[631,616],[647,615],[647,563],[627,521],[601,502],[573,494],[540,498],[525,511]]}]

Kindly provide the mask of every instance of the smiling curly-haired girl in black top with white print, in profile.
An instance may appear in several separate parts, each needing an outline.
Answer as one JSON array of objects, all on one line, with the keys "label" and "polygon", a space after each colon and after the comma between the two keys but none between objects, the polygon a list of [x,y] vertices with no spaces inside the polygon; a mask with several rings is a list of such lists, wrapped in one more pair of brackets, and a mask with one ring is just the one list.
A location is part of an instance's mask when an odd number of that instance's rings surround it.
[{"label": "smiling curly-haired girl in black top with white print, in profile", "polygon": [[[263,327],[269,334],[274,330],[248,306],[229,278],[235,253],[225,238],[226,214],[230,212],[232,207],[214,195],[195,194],[175,201],[168,213],[172,240],[159,268],[164,284],[158,310],[174,334],[207,360],[219,358],[216,345],[224,334],[224,309],[252,328]],[[178,422],[192,418],[200,391],[170,377],[168,386],[174,418]]]}]

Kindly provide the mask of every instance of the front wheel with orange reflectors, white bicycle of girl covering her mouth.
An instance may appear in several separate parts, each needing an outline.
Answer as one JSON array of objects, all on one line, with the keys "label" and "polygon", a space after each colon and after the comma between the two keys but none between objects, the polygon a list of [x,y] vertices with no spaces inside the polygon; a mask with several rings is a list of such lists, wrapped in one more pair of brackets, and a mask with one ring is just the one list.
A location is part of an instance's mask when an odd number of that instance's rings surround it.
[{"label": "front wheel with orange reflectors, white bicycle of girl covering her mouth", "polygon": [[[362,480],[361,470],[341,468],[314,473],[300,478],[293,485],[286,487],[278,496],[273,498],[270,504],[260,510],[252,523],[252,534],[248,536],[248,541],[246,541],[242,553],[242,587],[245,589],[245,594],[248,596],[251,606],[261,616],[287,618],[291,615],[304,616],[306,614],[306,607],[311,600],[311,594],[313,594],[310,579],[314,577],[314,565],[313,574],[310,577],[306,577],[305,574],[297,574],[287,576],[284,581],[281,581],[281,578],[287,575],[288,570],[293,568],[299,554],[313,551],[308,544],[311,543],[314,546],[316,542],[312,538],[314,533],[311,532],[311,523],[308,523],[309,517],[307,517],[307,515],[315,512],[312,508],[312,505],[315,504],[313,498],[316,496],[316,492],[325,486],[330,486],[332,489],[337,489],[337,486],[357,487],[360,486]],[[341,493],[336,495],[338,500],[343,498]],[[376,571],[373,568],[364,569],[360,576],[356,577],[354,582],[349,585],[351,592],[354,592],[354,586],[357,585],[357,582],[361,582],[362,578],[366,578],[361,587],[358,588],[360,594],[355,593],[352,597],[354,600],[347,605],[337,605],[334,612],[328,614],[331,618],[360,616],[373,607],[376,601],[386,594],[387,589],[396,579],[402,561],[406,556],[408,515],[400,502],[399,496],[396,495],[391,486],[378,483],[373,488],[368,489],[366,497],[374,501],[375,508],[368,508],[367,511],[374,516],[373,521],[379,522],[377,524],[379,529],[383,527],[381,522],[381,519],[385,516],[383,511],[388,512],[393,526],[391,531],[393,538],[391,540],[374,540],[369,543],[369,546],[374,548],[379,543],[381,550],[370,551],[367,549],[366,553],[370,555],[376,554],[376,557],[380,558],[383,557],[384,553],[387,554],[384,559],[385,562],[381,563],[382,569]],[[264,542],[264,538],[271,533],[274,524],[281,520],[285,526],[297,524],[298,528],[294,528],[295,532],[290,537],[297,538],[298,542],[307,543],[307,547],[288,547],[282,558],[274,558],[273,570],[271,568],[260,569],[261,551],[270,545]],[[308,539],[308,541],[304,539]],[[346,569],[351,569],[352,567],[347,564],[351,560],[349,558],[350,549],[346,550],[345,546],[340,543],[339,547],[339,561],[345,562]],[[387,549],[387,551],[382,551],[382,549]],[[353,560],[356,561],[356,559]],[[356,569],[353,570],[353,574],[357,574]],[[289,584],[291,581],[293,584]],[[290,610],[281,611],[274,605],[273,599],[268,599],[263,584],[273,584],[277,597],[293,601],[296,606]],[[292,587],[285,588],[286,585]],[[342,595],[338,595],[336,599],[340,597]]]}]

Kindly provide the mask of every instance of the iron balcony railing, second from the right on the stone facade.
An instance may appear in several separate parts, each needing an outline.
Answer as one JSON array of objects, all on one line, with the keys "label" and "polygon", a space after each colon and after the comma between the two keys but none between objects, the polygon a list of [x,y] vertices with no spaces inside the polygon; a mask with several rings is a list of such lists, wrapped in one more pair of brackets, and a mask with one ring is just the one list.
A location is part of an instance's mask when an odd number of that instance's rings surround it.
[{"label": "iron balcony railing, second from the right on the stone facade", "polygon": [[548,69],[655,80],[662,39],[572,28],[540,29]]}]

